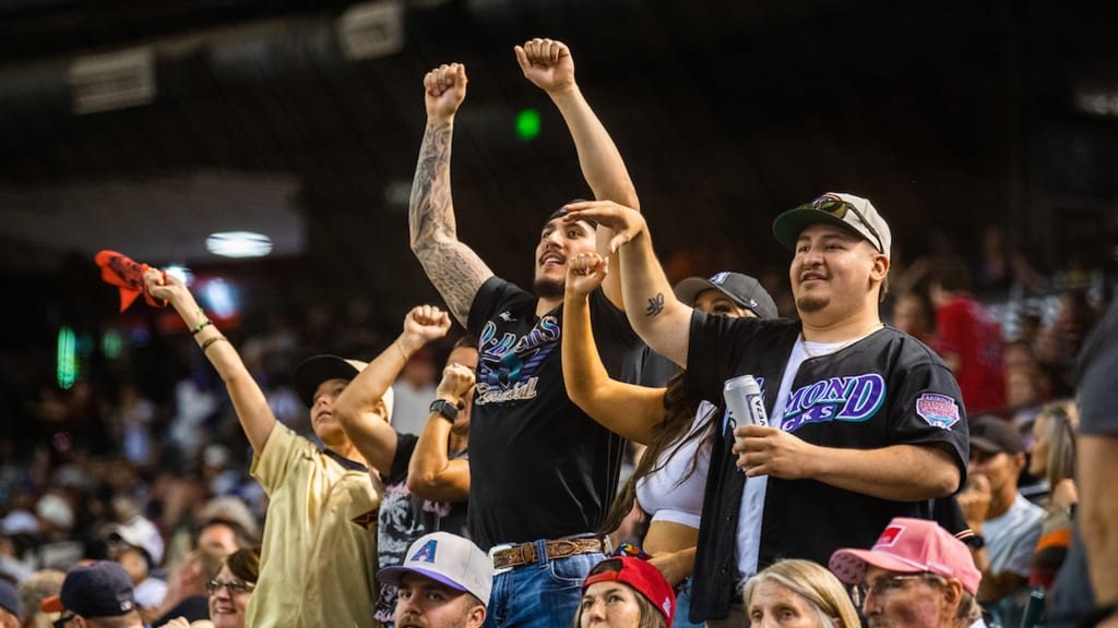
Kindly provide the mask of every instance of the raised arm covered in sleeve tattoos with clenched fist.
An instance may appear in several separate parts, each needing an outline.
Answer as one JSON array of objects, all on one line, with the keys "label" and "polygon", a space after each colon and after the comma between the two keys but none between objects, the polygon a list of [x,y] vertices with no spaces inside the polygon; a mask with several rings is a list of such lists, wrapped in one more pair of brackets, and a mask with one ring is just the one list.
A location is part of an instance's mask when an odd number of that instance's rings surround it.
[{"label": "raised arm covered in sleeve tattoos with clenched fist", "polygon": [[408,227],[411,253],[455,320],[466,326],[470,306],[493,272],[477,254],[458,241],[451,198],[451,140],[454,114],[466,97],[466,68],[439,66],[424,77],[427,129],[411,182]]}]

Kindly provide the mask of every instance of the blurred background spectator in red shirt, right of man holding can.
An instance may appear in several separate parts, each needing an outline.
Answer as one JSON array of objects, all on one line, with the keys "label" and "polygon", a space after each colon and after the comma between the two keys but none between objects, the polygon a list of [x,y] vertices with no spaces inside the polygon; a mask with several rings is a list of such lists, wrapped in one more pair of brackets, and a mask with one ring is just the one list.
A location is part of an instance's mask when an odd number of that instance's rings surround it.
[{"label": "blurred background spectator in red shirt, right of man holding can", "polygon": [[932,346],[955,373],[967,413],[999,411],[1005,407],[1002,369],[1002,327],[967,292],[970,279],[958,258],[935,263],[929,294],[936,306],[936,343]]}]

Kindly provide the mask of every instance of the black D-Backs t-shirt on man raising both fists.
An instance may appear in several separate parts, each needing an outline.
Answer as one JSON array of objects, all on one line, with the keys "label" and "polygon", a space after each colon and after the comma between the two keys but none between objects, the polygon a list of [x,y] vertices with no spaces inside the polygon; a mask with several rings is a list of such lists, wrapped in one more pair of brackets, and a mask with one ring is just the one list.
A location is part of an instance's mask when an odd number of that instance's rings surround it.
[{"label": "black D-Backs t-shirt on man raising both fists", "polygon": [[[617,491],[623,439],[567,397],[562,306],[536,316],[537,298],[492,277],[470,311],[479,340],[470,419],[471,537],[483,550],[593,532]],[[643,344],[597,289],[590,318],[610,377],[635,381]]]}]

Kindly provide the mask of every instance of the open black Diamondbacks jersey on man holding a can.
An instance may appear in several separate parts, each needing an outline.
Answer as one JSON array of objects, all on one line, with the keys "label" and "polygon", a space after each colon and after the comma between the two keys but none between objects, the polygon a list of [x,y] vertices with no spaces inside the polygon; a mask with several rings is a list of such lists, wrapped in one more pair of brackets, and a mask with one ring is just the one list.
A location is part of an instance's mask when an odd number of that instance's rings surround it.
[{"label": "open black Diamondbacks jersey on man holding a can", "polygon": [[[727,318],[695,312],[688,350],[688,392],[721,403],[722,383],[750,373],[766,409],[797,342],[798,322]],[[877,449],[920,445],[950,453],[965,482],[969,444],[958,384],[942,361],[908,334],[885,327],[835,353],[805,360],[781,421],[770,425],[823,447]],[[738,577],[736,542],[745,475],[716,437],[704,494],[691,619],[726,617]],[[783,558],[827,564],[839,548],[871,548],[894,516],[931,518],[931,502],[893,502],[816,480],[768,478],[758,569]]]}]

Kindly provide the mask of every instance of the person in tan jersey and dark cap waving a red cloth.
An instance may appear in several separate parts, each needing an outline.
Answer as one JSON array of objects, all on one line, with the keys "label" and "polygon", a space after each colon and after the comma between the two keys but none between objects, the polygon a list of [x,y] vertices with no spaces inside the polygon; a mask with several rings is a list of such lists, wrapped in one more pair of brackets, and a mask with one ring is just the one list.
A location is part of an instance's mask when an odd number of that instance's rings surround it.
[{"label": "person in tan jersey and dark cap waving a red cloth", "polygon": [[[320,450],[276,421],[237,351],[181,280],[152,268],[144,282],[154,298],[174,307],[225,381],[255,454],[253,476],[269,497],[259,590],[248,606],[248,624],[376,626],[380,496],[364,458],[333,416],[334,400],[364,363],[318,355],[296,368],[295,388],[311,409],[312,429],[323,443]],[[381,402],[375,412],[387,418],[389,410]]]}]

